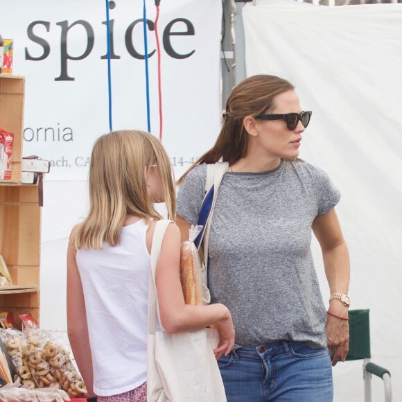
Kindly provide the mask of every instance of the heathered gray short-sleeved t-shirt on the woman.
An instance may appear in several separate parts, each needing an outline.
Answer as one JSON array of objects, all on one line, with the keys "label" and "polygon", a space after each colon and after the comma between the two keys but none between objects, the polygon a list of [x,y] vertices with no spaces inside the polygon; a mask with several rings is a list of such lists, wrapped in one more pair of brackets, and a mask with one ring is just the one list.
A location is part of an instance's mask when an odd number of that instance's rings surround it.
[{"label": "heathered gray short-sleeved t-shirt on the woman", "polygon": [[[197,224],[206,165],[186,175],[177,213]],[[320,168],[281,161],[272,171],[226,173],[209,236],[211,302],[233,317],[236,344],[278,340],[325,347],[326,309],[311,254],[311,224],[340,200]]]}]

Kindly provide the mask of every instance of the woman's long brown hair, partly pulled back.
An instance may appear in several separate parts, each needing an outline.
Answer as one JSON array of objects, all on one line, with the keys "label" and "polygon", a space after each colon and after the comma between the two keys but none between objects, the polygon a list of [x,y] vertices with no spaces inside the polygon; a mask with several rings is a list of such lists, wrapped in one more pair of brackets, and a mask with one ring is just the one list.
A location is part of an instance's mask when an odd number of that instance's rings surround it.
[{"label": "woman's long brown hair, partly pulled back", "polygon": [[249,136],[243,125],[245,116],[258,116],[274,108],[275,96],[295,87],[277,76],[260,74],[236,85],[227,98],[222,129],[213,147],[198,158],[180,177],[180,184],[194,166],[214,164],[222,158],[229,166],[247,154]]}]

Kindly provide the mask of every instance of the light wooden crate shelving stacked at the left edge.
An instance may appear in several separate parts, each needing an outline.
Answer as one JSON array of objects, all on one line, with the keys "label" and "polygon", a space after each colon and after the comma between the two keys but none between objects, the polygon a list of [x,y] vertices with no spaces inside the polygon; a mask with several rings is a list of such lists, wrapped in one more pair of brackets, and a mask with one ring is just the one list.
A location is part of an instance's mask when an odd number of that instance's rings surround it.
[{"label": "light wooden crate shelving stacked at the left edge", "polygon": [[14,134],[11,180],[0,180],[0,254],[12,285],[0,286],[0,311],[40,320],[41,208],[37,184],[21,183],[25,78],[0,74],[0,128]]}]

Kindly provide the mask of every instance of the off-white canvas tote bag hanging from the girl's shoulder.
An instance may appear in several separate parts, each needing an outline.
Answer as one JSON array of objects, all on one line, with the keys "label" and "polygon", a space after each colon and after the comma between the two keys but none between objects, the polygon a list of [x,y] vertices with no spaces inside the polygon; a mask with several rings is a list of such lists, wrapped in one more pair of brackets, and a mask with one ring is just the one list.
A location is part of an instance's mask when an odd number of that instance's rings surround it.
[{"label": "off-white canvas tote bag hanging from the girl's shoulder", "polygon": [[[159,220],[152,239],[148,295],[148,402],[226,402],[225,388],[213,349],[219,334],[213,329],[169,334],[160,323],[155,274],[166,227]],[[155,331],[156,320],[161,331]]]}]

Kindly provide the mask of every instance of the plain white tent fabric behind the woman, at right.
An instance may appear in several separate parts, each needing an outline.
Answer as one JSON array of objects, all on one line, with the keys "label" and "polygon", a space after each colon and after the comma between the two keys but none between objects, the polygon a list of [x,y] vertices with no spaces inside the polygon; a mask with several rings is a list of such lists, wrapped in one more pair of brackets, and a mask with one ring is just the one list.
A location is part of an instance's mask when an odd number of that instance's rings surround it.
[{"label": "plain white tent fabric behind the woman, at right", "polygon": [[[342,193],[336,208],[351,254],[351,308],[370,308],[372,360],[402,400],[402,4],[326,7],[256,0],[243,8],[247,76],[290,80],[313,110],[301,157]],[[313,243],[324,301],[329,295]],[[333,370],[335,401],[362,401],[361,362]],[[383,400],[374,378],[373,400]]]}]

